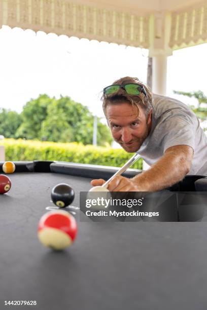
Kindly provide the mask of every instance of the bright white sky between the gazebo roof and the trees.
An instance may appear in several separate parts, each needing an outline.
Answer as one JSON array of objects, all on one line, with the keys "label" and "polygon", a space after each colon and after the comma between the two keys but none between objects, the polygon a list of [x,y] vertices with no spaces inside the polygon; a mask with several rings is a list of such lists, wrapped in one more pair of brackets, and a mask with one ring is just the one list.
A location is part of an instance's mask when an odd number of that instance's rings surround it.
[{"label": "bright white sky between the gazebo roof and the trees", "polygon": [[[20,28],[0,29],[0,107],[21,112],[40,94],[69,96],[103,117],[101,90],[123,76],[146,83],[148,50]],[[167,60],[167,96],[173,90],[207,95],[207,44],[174,51]]]}]

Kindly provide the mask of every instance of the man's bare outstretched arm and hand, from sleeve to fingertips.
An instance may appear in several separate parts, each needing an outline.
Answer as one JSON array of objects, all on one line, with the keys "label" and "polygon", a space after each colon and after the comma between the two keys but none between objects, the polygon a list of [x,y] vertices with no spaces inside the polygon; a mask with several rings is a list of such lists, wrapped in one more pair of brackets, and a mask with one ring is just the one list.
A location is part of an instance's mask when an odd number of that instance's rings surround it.
[{"label": "man's bare outstretched arm and hand, from sleeve to fingertips", "polygon": [[[110,191],[156,191],[169,187],[184,178],[190,171],[193,149],[188,145],[176,145],[166,149],[164,155],[150,169],[128,179],[115,176],[108,185]],[[93,186],[105,180],[92,180]]]}]

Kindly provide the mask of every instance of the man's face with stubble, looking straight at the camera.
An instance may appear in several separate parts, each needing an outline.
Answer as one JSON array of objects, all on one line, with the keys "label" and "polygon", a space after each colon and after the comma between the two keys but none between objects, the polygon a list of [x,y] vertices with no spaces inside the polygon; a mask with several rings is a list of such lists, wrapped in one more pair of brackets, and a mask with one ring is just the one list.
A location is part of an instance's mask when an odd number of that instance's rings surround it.
[{"label": "man's face with stubble, looking straight at the camera", "polygon": [[106,117],[112,136],[125,151],[132,153],[140,149],[151,129],[151,112],[148,118],[142,108],[139,110],[123,102],[106,108]]}]

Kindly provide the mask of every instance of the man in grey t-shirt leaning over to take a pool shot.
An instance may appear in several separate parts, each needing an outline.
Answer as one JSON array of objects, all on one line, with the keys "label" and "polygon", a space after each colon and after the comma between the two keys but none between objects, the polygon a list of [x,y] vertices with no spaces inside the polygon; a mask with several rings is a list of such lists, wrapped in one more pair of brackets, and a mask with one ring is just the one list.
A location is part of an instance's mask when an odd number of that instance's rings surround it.
[{"label": "man in grey t-shirt leaning over to take a pool shot", "polygon": [[[151,167],[128,179],[116,176],[110,191],[156,191],[186,174],[207,175],[207,137],[184,103],[152,94],[136,78],[125,77],[103,89],[103,111],[112,136],[127,152]],[[102,185],[93,180],[93,186]]]}]

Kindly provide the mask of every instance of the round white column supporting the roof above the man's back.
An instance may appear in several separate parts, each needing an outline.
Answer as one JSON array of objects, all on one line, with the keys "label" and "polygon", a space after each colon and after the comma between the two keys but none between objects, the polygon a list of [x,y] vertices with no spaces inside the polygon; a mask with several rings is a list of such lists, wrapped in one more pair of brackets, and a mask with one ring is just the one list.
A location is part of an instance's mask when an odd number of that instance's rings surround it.
[{"label": "round white column supporting the roof above the man's back", "polygon": [[152,92],[166,95],[167,56],[157,55],[152,59]]}]

